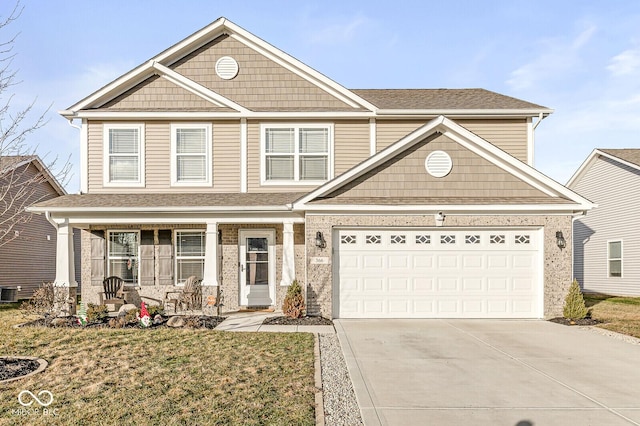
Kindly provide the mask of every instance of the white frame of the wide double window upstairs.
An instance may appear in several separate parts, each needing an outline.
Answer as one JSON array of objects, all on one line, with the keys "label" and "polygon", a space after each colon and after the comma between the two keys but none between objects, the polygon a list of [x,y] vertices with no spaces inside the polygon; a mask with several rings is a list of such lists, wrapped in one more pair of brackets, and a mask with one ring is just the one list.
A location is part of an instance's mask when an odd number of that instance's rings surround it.
[{"label": "white frame of the wide double window upstairs", "polygon": [[[266,140],[265,140],[265,130],[270,128],[285,128],[292,127],[296,129],[295,134],[298,134],[298,129],[301,127],[325,127],[329,132],[329,141],[328,141],[328,165],[327,167],[327,180],[267,180],[266,179]],[[261,123],[260,124],[260,185],[263,186],[317,186],[324,183],[327,183],[331,179],[333,179],[333,169],[334,169],[334,155],[333,155],[333,123]],[[297,138],[297,136],[296,136]],[[298,148],[296,146],[296,153],[294,154],[296,158],[299,157],[299,153],[297,152]],[[298,174],[299,164],[296,161],[294,164],[294,176]]]}]

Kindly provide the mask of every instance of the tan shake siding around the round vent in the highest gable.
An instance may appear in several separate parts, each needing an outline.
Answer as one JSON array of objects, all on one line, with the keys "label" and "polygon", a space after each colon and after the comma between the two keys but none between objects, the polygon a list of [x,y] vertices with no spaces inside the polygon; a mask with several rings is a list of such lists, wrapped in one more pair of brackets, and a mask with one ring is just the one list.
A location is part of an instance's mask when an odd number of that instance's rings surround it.
[{"label": "tan shake siding around the round vent in the highest gable", "polygon": [[[238,75],[231,80],[221,79],[214,70],[222,56],[238,62]],[[232,37],[223,36],[206,44],[171,68],[254,111],[353,109]]]}]

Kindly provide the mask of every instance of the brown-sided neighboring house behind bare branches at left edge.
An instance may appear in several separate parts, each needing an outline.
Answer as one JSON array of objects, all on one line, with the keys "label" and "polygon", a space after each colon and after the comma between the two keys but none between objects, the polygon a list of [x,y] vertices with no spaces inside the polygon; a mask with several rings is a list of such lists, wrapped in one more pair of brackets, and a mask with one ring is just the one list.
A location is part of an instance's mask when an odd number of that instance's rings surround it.
[{"label": "brown-sided neighboring house behind bare branches at left edge", "polygon": [[0,157],[0,287],[5,300],[29,298],[43,282],[54,280],[56,230],[45,216],[24,209],[66,194],[37,156]]}]

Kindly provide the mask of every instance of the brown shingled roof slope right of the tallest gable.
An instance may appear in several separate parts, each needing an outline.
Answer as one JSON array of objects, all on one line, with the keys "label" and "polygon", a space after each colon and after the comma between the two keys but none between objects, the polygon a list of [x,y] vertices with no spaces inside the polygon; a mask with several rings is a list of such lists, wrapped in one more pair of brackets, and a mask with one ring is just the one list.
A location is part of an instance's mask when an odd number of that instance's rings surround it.
[{"label": "brown shingled roof slope right of the tallest gable", "polygon": [[381,109],[548,110],[541,105],[485,89],[352,89],[351,91]]}]

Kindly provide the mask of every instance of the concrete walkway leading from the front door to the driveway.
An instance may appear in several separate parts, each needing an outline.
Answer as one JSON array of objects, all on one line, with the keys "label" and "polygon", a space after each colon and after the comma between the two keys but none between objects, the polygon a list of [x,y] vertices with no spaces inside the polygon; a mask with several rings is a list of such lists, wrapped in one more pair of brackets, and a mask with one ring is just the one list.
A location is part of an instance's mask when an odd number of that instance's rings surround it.
[{"label": "concrete walkway leading from the front door to the driveway", "polygon": [[218,331],[266,331],[277,333],[335,333],[332,325],[263,325],[266,318],[278,316],[272,312],[233,312],[215,328]]}]

